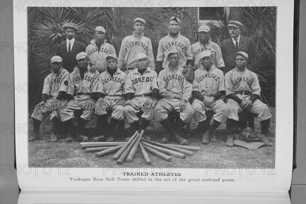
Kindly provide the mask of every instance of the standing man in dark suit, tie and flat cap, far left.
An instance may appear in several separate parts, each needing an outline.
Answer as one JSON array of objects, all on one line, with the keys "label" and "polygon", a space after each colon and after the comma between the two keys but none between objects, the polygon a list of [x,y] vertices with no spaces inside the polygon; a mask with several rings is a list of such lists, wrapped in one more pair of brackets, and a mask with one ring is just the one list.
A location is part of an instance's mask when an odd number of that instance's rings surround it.
[{"label": "standing man in dark suit, tie and flat cap, far left", "polygon": [[67,39],[57,45],[56,55],[63,59],[63,68],[71,73],[73,68],[78,64],[75,57],[77,54],[85,52],[86,45],[74,39],[74,35],[78,31],[77,25],[69,22],[63,28],[66,32]]}]

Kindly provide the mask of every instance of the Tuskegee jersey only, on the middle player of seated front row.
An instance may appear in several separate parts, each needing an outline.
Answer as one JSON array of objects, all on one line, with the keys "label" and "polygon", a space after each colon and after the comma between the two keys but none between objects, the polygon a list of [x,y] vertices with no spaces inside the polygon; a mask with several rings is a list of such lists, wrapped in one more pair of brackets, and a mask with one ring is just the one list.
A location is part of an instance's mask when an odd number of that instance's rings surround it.
[{"label": "Tuskegee jersey only, on the middle player of seated front row", "polygon": [[150,67],[141,73],[135,68],[126,78],[125,93],[134,93],[135,96],[151,93],[153,89],[158,89],[157,73]]}]

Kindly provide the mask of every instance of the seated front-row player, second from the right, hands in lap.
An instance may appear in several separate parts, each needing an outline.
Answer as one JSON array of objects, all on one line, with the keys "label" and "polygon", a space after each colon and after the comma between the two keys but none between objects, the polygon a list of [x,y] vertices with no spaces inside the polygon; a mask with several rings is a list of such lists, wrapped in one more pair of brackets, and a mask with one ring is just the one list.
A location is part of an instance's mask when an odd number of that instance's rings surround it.
[{"label": "seated front-row player, second from the right, hands in lap", "polygon": [[[225,94],[224,74],[213,63],[214,56],[211,50],[204,50],[200,55],[200,66],[194,72],[192,107],[194,109],[194,121],[199,123],[199,129],[203,132],[202,143],[208,144],[209,140],[216,142],[215,130],[226,121],[228,107],[223,102]],[[214,121],[205,128],[205,112],[212,110]]]}]

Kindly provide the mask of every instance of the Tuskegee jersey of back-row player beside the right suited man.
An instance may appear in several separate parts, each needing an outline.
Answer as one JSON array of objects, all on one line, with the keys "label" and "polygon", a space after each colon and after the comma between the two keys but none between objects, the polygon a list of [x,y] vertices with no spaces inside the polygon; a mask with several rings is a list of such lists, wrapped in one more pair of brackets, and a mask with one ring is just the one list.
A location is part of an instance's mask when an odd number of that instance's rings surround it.
[{"label": "Tuskegee jersey of back-row player beside the right suited man", "polygon": [[224,67],[224,61],[222,58],[221,48],[217,43],[212,42],[211,40],[203,45],[201,42],[196,42],[191,45],[191,52],[194,60],[194,69],[198,69],[201,64],[200,54],[203,51],[210,51],[212,53],[213,63],[216,67]]}]

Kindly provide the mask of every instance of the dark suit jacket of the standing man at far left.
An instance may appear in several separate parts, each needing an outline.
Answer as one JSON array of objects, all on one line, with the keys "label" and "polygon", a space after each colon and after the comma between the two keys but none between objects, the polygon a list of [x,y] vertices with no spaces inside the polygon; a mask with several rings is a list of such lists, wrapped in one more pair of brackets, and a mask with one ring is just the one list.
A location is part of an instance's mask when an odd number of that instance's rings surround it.
[{"label": "dark suit jacket of the standing man at far left", "polygon": [[78,62],[75,59],[81,52],[85,52],[86,45],[74,39],[70,54],[67,52],[66,40],[56,46],[56,55],[63,59],[62,67],[71,73]]}]

